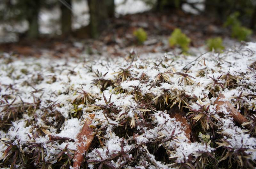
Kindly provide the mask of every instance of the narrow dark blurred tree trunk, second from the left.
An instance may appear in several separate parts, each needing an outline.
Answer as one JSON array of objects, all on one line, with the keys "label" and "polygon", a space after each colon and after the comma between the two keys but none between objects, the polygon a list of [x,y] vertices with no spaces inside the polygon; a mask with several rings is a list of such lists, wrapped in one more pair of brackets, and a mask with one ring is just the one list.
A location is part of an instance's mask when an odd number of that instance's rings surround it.
[{"label": "narrow dark blurred tree trunk, second from the left", "polygon": [[[72,32],[72,11],[69,9],[71,8],[71,0],[65,0],[67,5],[60,4],[61,10],[61,31],[62,35],[68,35]],[[68,6],[68,7],[67,7]]]}]

